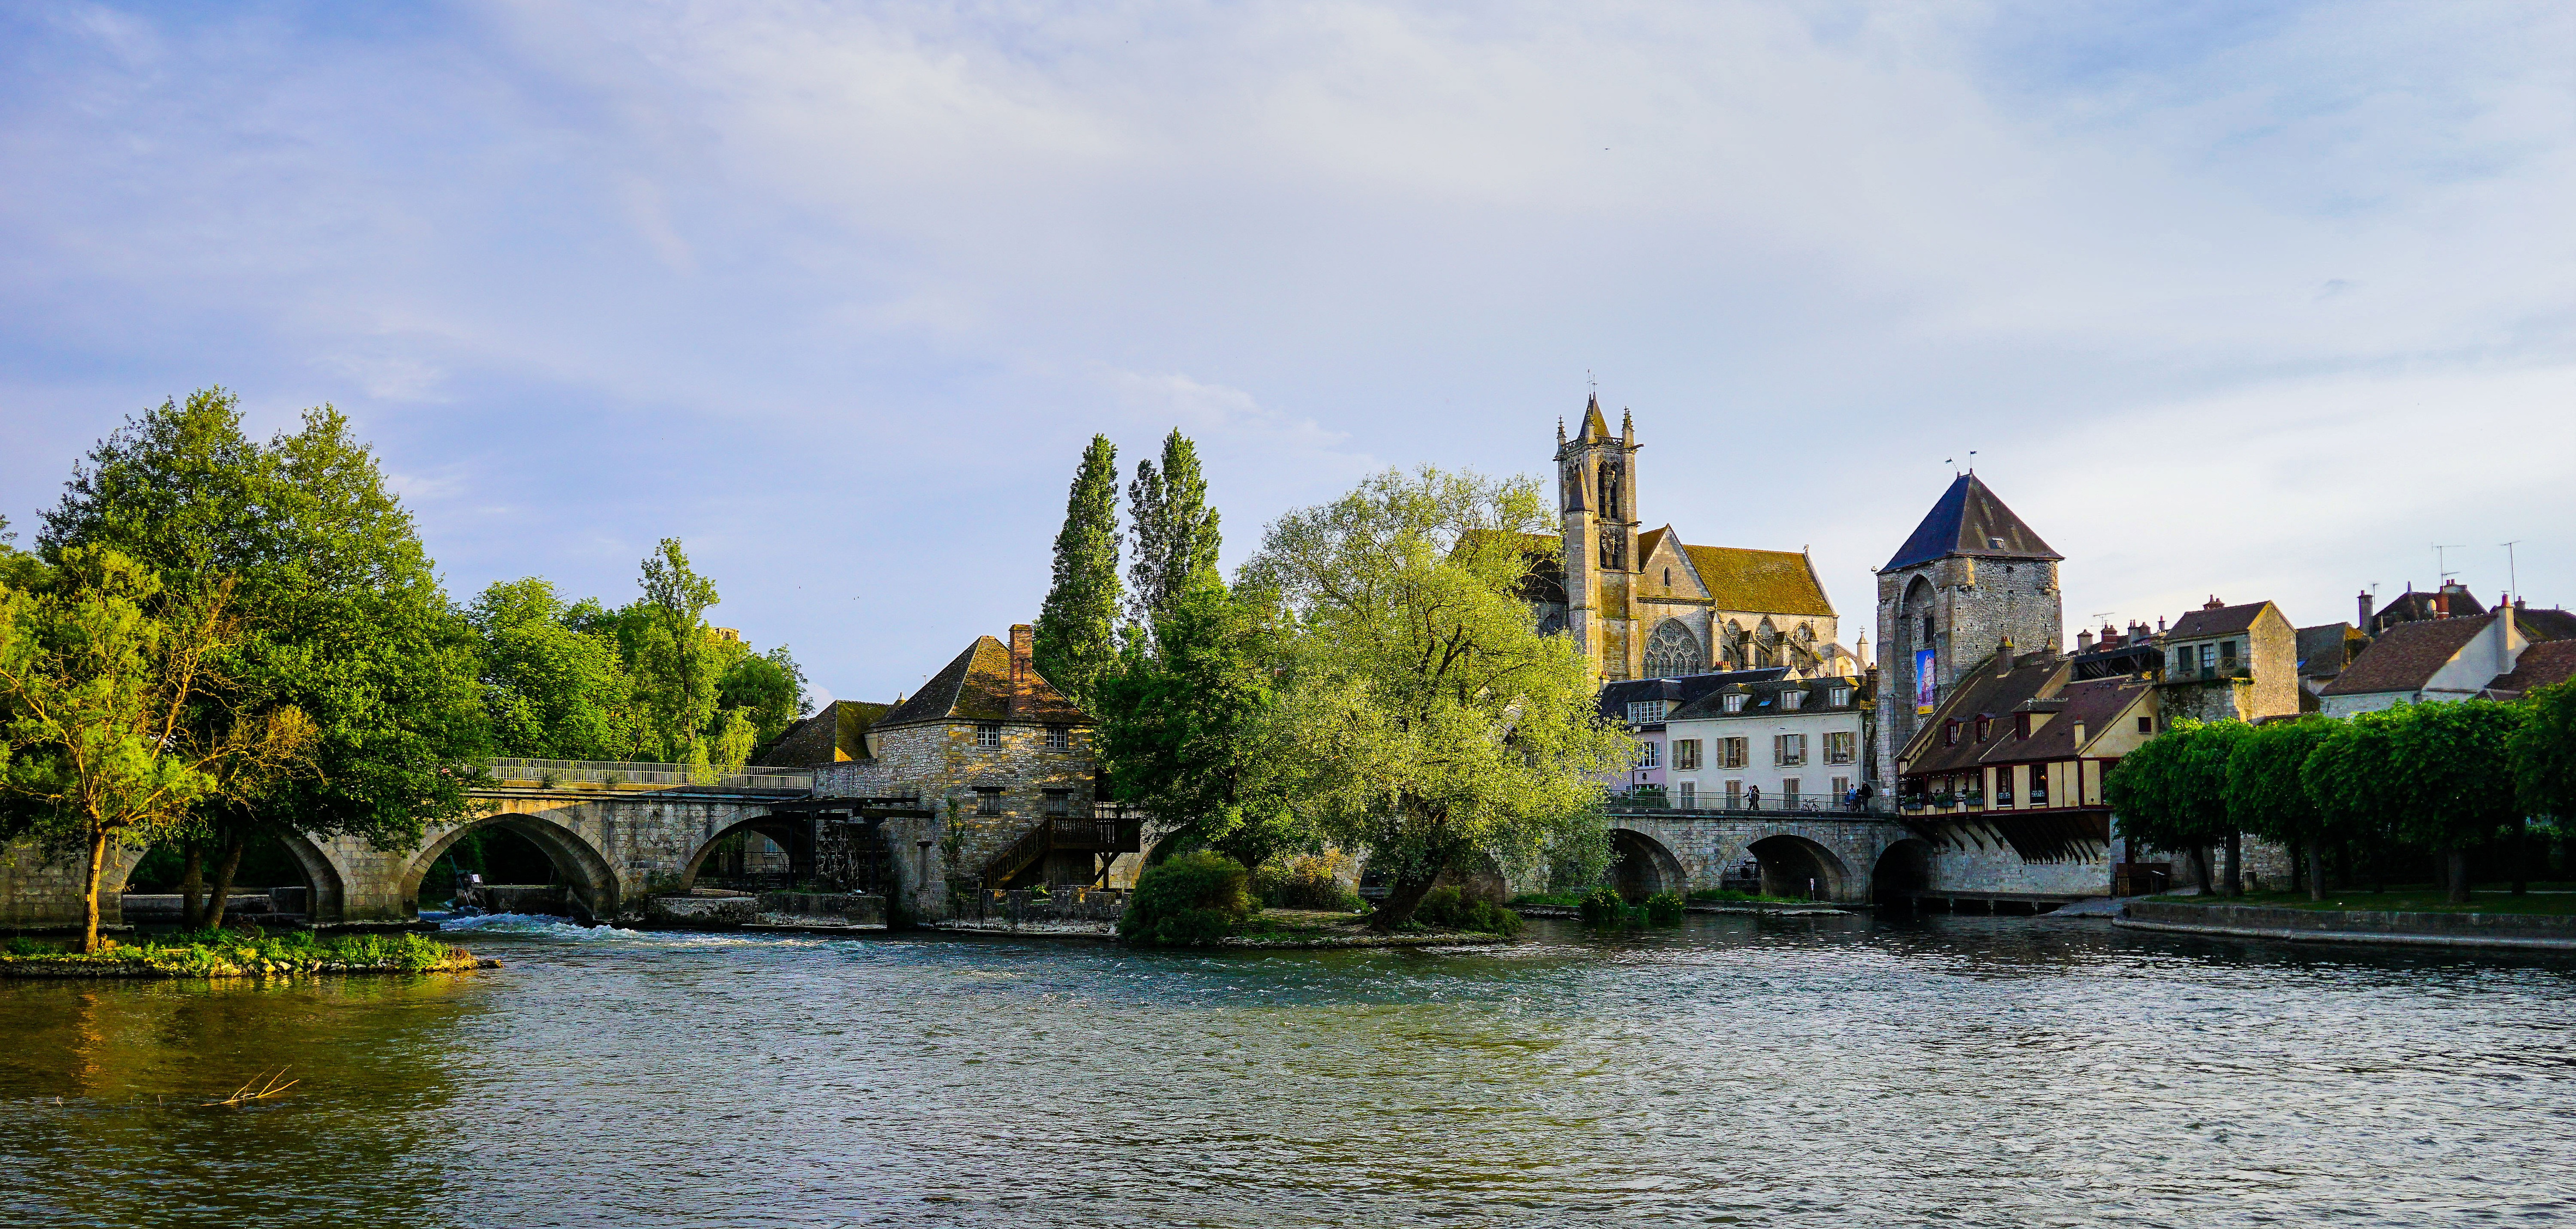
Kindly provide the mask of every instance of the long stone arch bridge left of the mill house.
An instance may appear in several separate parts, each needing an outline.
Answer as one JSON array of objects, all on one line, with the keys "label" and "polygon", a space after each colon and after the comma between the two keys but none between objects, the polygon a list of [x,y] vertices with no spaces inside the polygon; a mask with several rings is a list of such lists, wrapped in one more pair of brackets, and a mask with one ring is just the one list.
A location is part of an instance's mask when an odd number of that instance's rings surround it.
[{"label": "long stone arch bridge left of the mill house", "polygon": [[[474,819],[433,824],[415,848],[304,835],[283,835],[281,845],[304,871],[314,925],[412,920],[420,881],[459,837],[484,827],[518,832],[544,850],[580,912],[631,920],[649,894],[685,891],[708,850],[734,832],[775,840],[791,866],[811,873],[822,817],[850,812],[858,799],[814,801],[809,788],[806,773],[693,783],[677,765],[507,768],[495,788],[474,791]],[[144,850],[111,850],[98,886],[100,925],[124,920],[118,894],[142,858]],[[80,879],[77,850],[31,840],[0,845],[0,930],[77,928]]]}]

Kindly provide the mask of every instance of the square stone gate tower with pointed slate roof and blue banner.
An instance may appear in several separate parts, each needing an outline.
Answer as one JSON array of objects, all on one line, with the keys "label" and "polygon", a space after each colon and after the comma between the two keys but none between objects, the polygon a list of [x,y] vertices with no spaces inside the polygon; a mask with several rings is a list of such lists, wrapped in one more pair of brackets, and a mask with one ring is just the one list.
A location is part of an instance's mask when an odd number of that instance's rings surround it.
[{"label": "square stone gate tower with pointed slate roof and blue banner", "polygon": [[1888,557],[1878,569],[1880,781],[1896,781],[1896,752],[1960,672],[2007,642],[2017,654],[2058,652],[2058,559],[1973,472]]}]

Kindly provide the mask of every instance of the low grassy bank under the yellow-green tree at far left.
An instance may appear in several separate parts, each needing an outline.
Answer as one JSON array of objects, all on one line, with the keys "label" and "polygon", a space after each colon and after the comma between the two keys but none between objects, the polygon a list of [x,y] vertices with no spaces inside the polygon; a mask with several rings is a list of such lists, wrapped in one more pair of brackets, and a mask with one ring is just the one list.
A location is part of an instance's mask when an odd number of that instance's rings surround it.
[{"label": "low grassy bank under the yellow-green tree at far left", "polygon": [[62,943],[13,938],[0,946],[0,977],[309,977],[309,974],[433,974],[474,969],[479,961],[430,935],[263,935],[258,930],[196,930],[142,943],[108,943],[77,953]]}]

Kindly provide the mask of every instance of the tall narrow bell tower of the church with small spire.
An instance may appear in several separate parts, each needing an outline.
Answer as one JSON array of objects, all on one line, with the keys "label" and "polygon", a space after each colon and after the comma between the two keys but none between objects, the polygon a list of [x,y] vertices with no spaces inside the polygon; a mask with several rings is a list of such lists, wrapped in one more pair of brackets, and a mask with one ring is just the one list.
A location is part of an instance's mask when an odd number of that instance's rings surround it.
[{"label": "tall narrow bell tower of the church with small spire", "polygon": [[1636,423],[1610,435],[1602,402],[1584,405],[1582,430],[1556,425],[1556,505],[1564,510],[1566,629],[1605,680],[1636,678]]}]

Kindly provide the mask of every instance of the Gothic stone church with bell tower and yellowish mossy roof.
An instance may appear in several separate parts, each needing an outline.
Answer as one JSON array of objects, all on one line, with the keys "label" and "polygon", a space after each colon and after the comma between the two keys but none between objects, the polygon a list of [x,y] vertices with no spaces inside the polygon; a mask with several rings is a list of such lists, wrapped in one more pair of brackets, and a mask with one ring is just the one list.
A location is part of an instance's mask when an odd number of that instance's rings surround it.
[{"label": "Gothic stone church with bell tower and yellowish mossy roof", "polygon": [[1837,644],[1834,603],[1806,551],[1690,546],[1672,526],[1638,531],[1636,423],[1610,433],[1600,397],[1569,441],[1556,423],[1558,551],[1530,541],[1525,595],[1540,631],[1569,631],[1600,680],[1788,667],[1790,678],[1860,675],[1868,654]]}]

